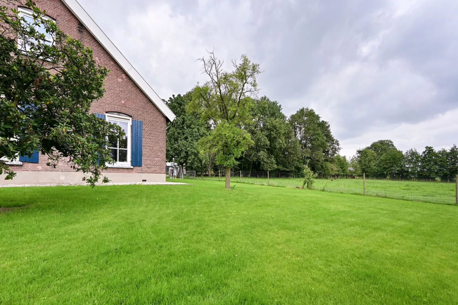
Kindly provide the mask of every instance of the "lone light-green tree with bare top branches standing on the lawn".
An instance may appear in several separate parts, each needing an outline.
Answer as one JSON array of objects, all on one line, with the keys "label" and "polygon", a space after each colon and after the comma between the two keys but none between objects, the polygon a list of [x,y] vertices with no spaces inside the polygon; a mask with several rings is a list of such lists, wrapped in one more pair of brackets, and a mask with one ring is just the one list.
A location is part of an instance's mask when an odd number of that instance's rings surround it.
[{"label": "lone light-green tree with bare top branches standing on the lawn", "polygon": [[224,71],[223,62],[213,52],[202,57],[202,70],[209,80],[194,88],[188,109],[201,115],[213,125],[208,136],[200,142],[207,152],[214,152],[215,163],[226,168],[226,188],[230,188],[230,169],[237,158],[253,144],[243,126],[251,119],[250,109],[258,93],[256,76],[259,65],[242,55],[240,63],[232,61],[234,71]]}]

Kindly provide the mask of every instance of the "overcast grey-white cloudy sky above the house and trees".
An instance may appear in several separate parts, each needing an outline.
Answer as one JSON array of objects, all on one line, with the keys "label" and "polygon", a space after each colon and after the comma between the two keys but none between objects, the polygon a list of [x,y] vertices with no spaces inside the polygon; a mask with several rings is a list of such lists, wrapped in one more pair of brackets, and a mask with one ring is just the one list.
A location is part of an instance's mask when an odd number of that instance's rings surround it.
[{"label": "overcast grey-white cloudy sky above the house and trees", "polygon": [[458,144],[456,0],[78,1],[161,98],[205,81],[214,48],[261,64],[261,95],[315,109],[348,157]]}]

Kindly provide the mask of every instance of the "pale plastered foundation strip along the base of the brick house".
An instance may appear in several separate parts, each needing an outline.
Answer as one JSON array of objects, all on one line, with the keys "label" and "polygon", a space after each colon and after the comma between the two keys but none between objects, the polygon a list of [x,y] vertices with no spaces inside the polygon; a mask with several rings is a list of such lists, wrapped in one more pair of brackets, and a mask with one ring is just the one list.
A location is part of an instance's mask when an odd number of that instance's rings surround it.
[{"label": "pale plastered foundation strip along the base of the brick house", "polygon": [[[143,173],[104,173],[110,182],[165,182],[165,174]],[[5,180],[0,176],[1,184],[86,184],[82,181],[83,174],[78,172],[17,172],[13,180]],[[102,182],[102,180],[99,180]]]}]

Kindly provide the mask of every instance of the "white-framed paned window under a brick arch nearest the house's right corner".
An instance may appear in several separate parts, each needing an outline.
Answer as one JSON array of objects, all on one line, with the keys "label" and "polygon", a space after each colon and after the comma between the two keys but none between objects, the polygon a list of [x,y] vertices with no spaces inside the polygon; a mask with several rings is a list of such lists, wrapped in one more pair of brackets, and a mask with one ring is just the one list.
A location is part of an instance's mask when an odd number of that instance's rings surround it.
[{"label": "white-framed paned window under a brick arch nearest the house's right corner", "polygon": [[107,164],[108,167],[128,167],[131,168],[131,125],[130,117],[106,114],[106,120],[110,123],[119,125],[125,132],[125,137],[121,141],[109,139],[109,149],[114,164]]}]

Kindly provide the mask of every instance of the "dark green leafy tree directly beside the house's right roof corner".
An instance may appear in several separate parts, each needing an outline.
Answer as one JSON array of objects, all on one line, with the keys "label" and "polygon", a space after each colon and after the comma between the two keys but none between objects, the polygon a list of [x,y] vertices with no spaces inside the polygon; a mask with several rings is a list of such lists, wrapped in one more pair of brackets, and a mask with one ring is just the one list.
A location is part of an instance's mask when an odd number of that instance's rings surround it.
[{"label": "dark green leafy tree directly beside the house's right roof corner", "polygon": [[209,126],[199,116],[186,112],[192,99],[192,92],[173,95],[167,101],[170,110],[176,115],[167,128],[166,158],[169,162],[185,165],[190,169],[200,169],[207,161],[197,143],[207,135]]}]

